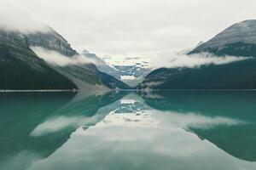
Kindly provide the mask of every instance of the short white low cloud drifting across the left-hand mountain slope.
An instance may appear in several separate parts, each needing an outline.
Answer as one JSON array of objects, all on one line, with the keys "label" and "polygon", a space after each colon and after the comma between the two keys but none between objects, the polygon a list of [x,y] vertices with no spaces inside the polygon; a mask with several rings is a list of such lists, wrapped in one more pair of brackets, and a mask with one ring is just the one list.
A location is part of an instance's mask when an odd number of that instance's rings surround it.
[{"label": "short white low cloud drifting across the left-hand mountain slope", "polygon": [[81,55],[74,55],[73,57],[67,57],[53,50],[47,50],[41,47],[31,47],[35,54],[39,58],[44,59],[46,62],[52,65],[83,65],[90,64],[91,60]]}]

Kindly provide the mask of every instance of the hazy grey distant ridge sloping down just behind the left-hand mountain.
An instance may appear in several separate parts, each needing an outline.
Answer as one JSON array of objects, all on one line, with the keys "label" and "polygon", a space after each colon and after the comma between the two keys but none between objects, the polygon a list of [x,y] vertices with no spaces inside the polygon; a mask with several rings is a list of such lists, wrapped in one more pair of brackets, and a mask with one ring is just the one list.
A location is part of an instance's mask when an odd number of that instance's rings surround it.
[{"label": "hazy grey distant ridge sloping down just behind the left-hand mountain", "polygon": [[108,75],[120,79],[120,72],[116,70],[114,67],[108,65],[103,59],[98,57],[96,54],[91,54],[87,50],[83,50],[82,55],[87,59],[90,59],[91,62],[96,65],[99,71],[105,72]]}]

